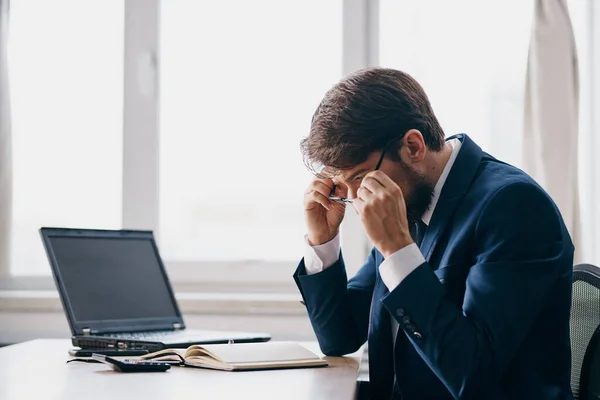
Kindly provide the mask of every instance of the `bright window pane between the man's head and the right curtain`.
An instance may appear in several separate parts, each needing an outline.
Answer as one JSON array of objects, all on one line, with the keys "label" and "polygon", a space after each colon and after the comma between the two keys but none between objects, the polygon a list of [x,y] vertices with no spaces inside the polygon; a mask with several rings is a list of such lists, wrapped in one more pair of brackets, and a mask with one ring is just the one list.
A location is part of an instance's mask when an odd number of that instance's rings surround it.
[{"label": "bright window pane between the man's head and the right curtain", "polygon": [[533,1],[380,2],[380,64],[421,83],[447,136],[520,165]]}]

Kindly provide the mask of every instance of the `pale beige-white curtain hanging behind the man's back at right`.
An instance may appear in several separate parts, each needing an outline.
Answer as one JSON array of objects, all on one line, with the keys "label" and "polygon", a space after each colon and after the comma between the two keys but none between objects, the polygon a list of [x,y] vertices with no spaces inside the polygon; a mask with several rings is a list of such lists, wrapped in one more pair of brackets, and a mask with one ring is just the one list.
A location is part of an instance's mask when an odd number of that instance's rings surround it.
[{"label": "pale beige-white curtain hanging behind the man's back at right", "polygon": [[581,229],[577,184],[579,75],[566,0],[535,0],[525,93],[523,166],[554,199],[575,243]]}]

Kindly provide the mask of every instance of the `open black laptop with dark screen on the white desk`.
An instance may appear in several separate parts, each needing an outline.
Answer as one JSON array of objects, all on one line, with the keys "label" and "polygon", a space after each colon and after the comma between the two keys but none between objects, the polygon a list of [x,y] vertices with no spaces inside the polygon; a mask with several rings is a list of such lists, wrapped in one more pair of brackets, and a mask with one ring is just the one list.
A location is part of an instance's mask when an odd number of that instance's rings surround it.
[{"label": "open black laptop with dark screen on the white desk", "polygon": [[186,329],[151,231],[43,227],[40,234],[74,346],[152,352],[271,339]]}]

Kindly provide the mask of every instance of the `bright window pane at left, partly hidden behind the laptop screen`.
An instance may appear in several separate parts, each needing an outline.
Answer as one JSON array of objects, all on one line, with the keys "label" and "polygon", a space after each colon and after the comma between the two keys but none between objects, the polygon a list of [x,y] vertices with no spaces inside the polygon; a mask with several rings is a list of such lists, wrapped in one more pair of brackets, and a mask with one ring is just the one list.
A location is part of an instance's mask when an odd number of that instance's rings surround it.
[{"label": "bright window pane at left, partly hidden behind the laptop screen", "polygon": [[49,274],[41,226],[121,226],[123,1],[13,0],[11,272]]}]

